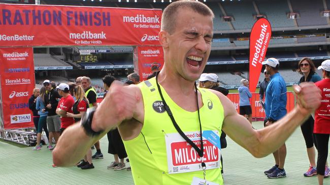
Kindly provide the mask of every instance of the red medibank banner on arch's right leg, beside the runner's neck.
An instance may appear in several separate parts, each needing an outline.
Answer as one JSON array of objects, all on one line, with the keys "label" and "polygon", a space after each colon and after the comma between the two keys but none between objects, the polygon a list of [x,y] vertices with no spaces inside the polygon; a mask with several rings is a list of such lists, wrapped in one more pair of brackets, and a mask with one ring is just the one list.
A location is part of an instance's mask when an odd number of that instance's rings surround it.
[{"label": "red medibank banner on arch's right leg, beside the runner's neck", "polygon": [[164,53],[162,47],[137,47],[138,70],[140,80],[147,80],[152,74],[151,65],[158,65],[159,70],[164,65]]}]

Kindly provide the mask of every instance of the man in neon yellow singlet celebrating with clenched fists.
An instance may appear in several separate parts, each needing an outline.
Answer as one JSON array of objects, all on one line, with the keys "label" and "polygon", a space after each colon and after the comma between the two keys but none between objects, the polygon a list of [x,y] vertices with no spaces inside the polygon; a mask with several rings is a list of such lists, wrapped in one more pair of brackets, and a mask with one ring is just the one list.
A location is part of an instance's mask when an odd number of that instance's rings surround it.
[{"label": "man in neon yellow singlet celebrating with clenched fists", "polygon": [[162,70],[139,85],[112,83],[96,111],[88,110],[81,125],[65,130],[53,152],[54,163],[74,165],[116,126],[136,184],[223,184],[221,128],[255,157],[277,150],[320,105],[320,92],[314,84],[296,86],[296,108],[278,124],[253,130],[224,95],[196,87],[211,52],[213,18],[212,11],[196,1],[177,1],[164,9],[159,32]]}]

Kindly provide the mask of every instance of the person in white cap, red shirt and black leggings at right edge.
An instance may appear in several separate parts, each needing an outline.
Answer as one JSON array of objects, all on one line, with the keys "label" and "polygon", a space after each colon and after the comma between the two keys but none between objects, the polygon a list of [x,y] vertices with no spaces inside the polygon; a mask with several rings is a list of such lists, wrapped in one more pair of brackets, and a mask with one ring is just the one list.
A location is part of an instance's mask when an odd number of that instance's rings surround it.
[{"label": "person in white cap, red shirt and black leggings at right edge", "polygon": [[315,85],[322,91],[321,106],[315,110],[314,134],[317,143],[317,178],[318,184],[323,184],[323,178],[330,176],[326,165],[330,135],[330,60],[322,62],[317,69],[322,69],[323,80]]}]

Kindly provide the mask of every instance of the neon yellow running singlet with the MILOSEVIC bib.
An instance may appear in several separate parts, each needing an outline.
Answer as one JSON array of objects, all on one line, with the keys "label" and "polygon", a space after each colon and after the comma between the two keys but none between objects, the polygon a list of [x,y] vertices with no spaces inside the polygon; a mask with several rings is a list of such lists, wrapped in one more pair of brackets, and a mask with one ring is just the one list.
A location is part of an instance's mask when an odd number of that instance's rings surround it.
[{"label": "neon yellow running singlet with the MILOSEVIC bib", "polygon": [[[197,157],[199,156],[194,153],[194,149],[191,150],[191,146],[189,144],[187,145],[185,141],[167,143],[168,140],[176,140],[176,138],[179,138],[177,140],[183,140],[183,138],[173,126],[169,115],[161,107],[161,98],[157,90],[155,78],[141,82],[139,87],[142,91],[145,109],[143,128],[140,134],[133,140],[123,141],[129,157],[135,184],[191,184],[193,177],[203,179],[202,169],[177,173],[180,170],[191,170],[191,161],[196,161],[196,155]],[[181,130],[186,135],[187,133],[190,133],[190,135],[191,133],[200,133],[197,111],[185,111],[171,100],[162,87],[160,88],[164,100],[170,107]],[[199,91],[202,94],[203,100],[203,107],[200,108],[202,131],[212,130],[220,137],[224,117],[220,100],[208,89],[199,88]],[[191,101],[195,102],[196,100]],[[180,137],[173,135],[179,135]],[[200,137],[198,138],[200,140]],[[205,158],[209,156],[210,159],[214,159],[213,167],[217,166],[214,169],[210,169],[211,165],[206,163],[206,179],[223,184],[219,162],[220,152],[217,154],[216,151],[218,151],[218,148],[215,150],[215,147],[208,146],[210,142],[206,142],[208,144],[204,145],[204,156]],[[169,149],[169,146],[172,148]],[[172,161],[170,160],[171,157],[169,157],[171,153]],[[172,166],[172,162],[173,164],[178,162],[183,165],[179,167]],[[195,162],[197,166],[200,164],[201,162]]]}]

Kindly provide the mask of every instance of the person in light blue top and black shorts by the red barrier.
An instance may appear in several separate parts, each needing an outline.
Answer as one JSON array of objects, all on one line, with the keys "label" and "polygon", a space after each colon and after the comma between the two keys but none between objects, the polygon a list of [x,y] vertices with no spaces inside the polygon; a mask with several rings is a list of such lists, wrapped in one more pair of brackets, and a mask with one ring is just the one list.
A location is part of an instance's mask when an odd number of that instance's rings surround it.
[{"label": "person in light blue top and black shorts by the red barrier", "polygon": [[248,88],[249,80],[244,78],[241,80],[241,84],[242,85],[238,87],[238,92],[240,94],[240,114],[243,116],[246,115],[252,125],[252,109],[250,104],[252,94]]}]

